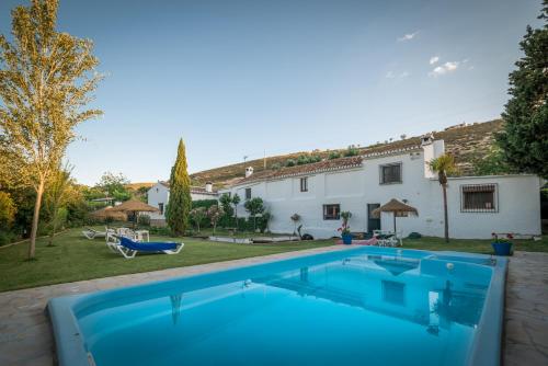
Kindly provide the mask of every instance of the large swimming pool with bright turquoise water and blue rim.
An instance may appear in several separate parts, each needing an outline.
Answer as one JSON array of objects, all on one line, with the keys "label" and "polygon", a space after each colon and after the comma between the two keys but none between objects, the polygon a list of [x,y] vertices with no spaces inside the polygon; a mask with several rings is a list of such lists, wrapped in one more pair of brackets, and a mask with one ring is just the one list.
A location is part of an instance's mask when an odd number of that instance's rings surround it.
[{"label": "large swimming pool with bright turquoise water and blue rim", "polygon": [[52,299],[60,365],[499,365],[506,260],[357,248]]}]

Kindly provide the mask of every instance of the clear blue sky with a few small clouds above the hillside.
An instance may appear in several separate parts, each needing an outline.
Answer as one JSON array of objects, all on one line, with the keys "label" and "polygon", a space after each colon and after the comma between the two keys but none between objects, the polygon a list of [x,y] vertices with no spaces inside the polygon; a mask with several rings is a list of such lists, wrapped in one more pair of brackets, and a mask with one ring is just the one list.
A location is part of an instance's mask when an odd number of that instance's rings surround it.
[{"label": "clear blue sky with a few small clouds above the hillside", "polygon": [[[0,2],[0,32],[10,10]],[[60,1],[95,43],[99,121],[68,150],[79,182],[169,178],[266,155],[368,145],[498,117],[540,0]]]}]

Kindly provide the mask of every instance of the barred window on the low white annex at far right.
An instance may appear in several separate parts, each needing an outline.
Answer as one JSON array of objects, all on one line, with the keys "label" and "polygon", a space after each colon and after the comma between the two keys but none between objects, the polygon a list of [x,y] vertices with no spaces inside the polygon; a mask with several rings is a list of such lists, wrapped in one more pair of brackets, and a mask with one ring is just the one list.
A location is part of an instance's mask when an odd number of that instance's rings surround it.
[{"label": "barred window on the low white annex at far right", "polygon": [[463,213],[496,213],[496,184],[466,184],[460,186]]}]

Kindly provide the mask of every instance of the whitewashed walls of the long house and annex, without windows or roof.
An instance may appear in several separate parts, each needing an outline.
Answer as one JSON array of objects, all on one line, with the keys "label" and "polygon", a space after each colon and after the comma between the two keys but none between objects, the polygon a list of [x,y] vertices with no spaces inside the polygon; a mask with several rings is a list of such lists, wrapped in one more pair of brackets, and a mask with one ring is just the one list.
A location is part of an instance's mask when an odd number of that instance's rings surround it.
[{"label": "whitewashed walls of the long house and annex, without windows or roof", "polygon": [[[379,184],[379,165],[402,163],[402,183]],[[424,155],[403,153],[399,156],[366,159],[362,168],[315,173],[308,176],[308,192],[300,192],[300,176],[273,182],[255,182],[235,186],[220,193],[238,193],[241,204],[238,216],[247,216],[243,208],[247,187],[252,197],[262,197],[273,218],[273,232],[293,232],[293,214],[301,216],[302,232],[315,238],[339,236],[340,220],[324,220],[323,205],[340,204],[341,210],[350,210],[352,231],[367,231],[367,204],[385,204],[391,198],[406,199],[419,210],[419,216],[398,217],[397,229],[404,236],[411,231],[424,236],[443,237],[442,190],[435,179],[426,179]],[[498,213],[461,213],[460,185],[498,184]],[[484,178],[459,178],[449,180],[449,235],[453,238],[483,238],[491,232],[540,233],[540,180],[534,175],[505,175]],[[392,214],[381,215],[381,228],[393,228]]]}]

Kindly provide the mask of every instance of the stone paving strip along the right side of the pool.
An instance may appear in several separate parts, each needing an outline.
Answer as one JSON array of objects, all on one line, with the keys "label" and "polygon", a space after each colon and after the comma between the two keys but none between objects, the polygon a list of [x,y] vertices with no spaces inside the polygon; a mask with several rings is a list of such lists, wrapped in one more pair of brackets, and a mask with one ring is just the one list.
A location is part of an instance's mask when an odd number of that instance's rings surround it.
[{"label": "stone paving strip along the right side of the pool", "polygon": [[504,366],[548,365],[548,253],[510,260],[504,318]]}]

